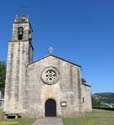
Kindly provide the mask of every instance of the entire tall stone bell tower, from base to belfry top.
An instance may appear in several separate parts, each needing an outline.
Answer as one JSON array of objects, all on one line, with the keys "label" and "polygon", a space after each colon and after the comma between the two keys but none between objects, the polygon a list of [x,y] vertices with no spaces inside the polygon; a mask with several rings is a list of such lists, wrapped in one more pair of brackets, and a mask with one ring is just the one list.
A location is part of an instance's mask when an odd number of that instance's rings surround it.
[{"label": "entire tall stone bell tower, from base to belfry top", "polygon": [[16,17],[13,23],[12,38],[8,46],[4,112],[22,113],[24,88],[26,86],[27,65],[32,62],[32,27],[26,16]]}]

